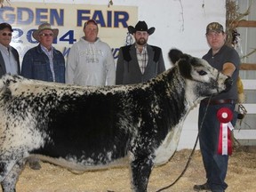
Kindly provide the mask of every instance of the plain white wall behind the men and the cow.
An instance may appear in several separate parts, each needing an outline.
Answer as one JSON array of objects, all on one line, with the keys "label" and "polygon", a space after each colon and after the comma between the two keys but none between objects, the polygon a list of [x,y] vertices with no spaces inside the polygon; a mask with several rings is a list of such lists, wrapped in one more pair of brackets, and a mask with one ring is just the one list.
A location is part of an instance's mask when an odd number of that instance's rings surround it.
[{"label": "plain white wall behind the men and the cow", "polygon": [[[108,6],[108,0],[12,0],[11,4],[15,2]],[[206,25],[218,21],[225,26],[225,0],[113,0],[113,3],[113,6],[138,6],[138,19],[145,20],[149,28],[156,28],[156,32],[149,36],[148,44],[158,45],[163,49],[166,68],[171,67],[167,53],[172,47],[202,57],[209,49],[205,41]],[[132,26],[135,24],[130,23]],[[185,121],[178,149],[194,147],[197,110],[198,108],[193,109]]]}]

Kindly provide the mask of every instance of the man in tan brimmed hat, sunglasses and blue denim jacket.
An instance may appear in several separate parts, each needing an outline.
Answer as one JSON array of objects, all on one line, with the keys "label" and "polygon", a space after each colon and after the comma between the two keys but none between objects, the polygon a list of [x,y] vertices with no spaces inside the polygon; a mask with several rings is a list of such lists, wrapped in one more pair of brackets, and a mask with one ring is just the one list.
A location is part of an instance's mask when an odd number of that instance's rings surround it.
[{"label": "man in tan brimmed hat, sunglasses and blue denim jacket", "polygon": [[21,76],[47,82],[65,83],[65,60],[59,50],[52,46],[59,34],[58,28],[49,23],[41,24],[32,36],[39,42],[26,52],[22,60]]}]

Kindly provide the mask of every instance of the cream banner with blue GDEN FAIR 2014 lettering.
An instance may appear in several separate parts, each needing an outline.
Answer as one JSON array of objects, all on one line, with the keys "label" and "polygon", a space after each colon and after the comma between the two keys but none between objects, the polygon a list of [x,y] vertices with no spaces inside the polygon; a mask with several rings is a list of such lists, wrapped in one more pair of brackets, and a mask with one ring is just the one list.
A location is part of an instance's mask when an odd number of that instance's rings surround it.
[{"label": "cream banner with blue GDEN FAIR 2014 lettering", "polygon": [[135,6],[110,6],[91,4],[44,4],[12,3],[0,9],[0,22],[12,25],[12,46],[23,55],[38,44],[32,32],[41,23],[49,22],[52,28],[59,28],[59,36],[53,46],[63,53],[65,59],[72,44],[84,36],[86,20],[98,22],[99,37],[109,44],[116,58],[119,47],[125,44],[127,27],[138,22],[138,8]]}]

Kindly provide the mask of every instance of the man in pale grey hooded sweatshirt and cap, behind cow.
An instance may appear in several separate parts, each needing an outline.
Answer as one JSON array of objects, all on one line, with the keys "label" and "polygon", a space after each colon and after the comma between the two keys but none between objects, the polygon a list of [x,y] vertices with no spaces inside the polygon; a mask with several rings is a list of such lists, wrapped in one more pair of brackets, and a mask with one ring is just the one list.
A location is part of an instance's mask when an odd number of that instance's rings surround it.
[{"label": "man in pale grey hooded sweatshirt and cap, behind cow", "polygon": [[68,53],[66,83],[77,85],[113,85],[116,81],[116,66],[108,44],[98,37],[95,20],[84,23],[84,36]]}]

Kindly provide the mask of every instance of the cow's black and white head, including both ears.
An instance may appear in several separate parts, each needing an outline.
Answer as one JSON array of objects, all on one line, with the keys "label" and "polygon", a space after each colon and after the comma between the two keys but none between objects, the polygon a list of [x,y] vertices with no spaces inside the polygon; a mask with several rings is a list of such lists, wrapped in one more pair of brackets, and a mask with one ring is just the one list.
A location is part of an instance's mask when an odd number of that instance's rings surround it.
[{"label": "cow's black and white head, including both ears", "polygon": [[193,90],[196,94],[196,99],[228,91],[232,85],[232,79],[229,76],[212,68],[206,60],[184,54],[177,49],[172,49],[169,57],[179,68],[180,75],[185,78],[188,90]]}]

